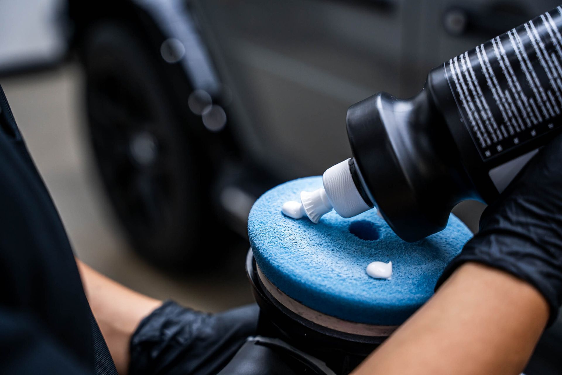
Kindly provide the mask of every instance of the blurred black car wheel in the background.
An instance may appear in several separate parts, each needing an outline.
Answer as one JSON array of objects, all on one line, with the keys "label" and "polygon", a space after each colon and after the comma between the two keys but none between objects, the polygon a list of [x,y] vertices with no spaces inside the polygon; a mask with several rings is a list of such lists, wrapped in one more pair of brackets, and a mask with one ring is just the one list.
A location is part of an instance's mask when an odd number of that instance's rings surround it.
[{"label": "blurred black car wheel in the background", "polygon": [[93,151],[130,242],[153,264],[193,268],[221,230],[208,225],[211,179],[195,124],[179,120],[158,55],[129,26],[93,26],[83,52]]}]

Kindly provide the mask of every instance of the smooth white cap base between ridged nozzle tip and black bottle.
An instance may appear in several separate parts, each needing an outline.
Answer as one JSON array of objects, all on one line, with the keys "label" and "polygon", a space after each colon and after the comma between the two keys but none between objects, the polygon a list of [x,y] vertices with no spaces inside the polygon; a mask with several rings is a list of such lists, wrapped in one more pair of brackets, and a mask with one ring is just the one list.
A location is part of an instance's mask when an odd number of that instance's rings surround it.
[{"label": "smooth white cap base between ridged nozzle tip and black bottle", "polygon": [[351,177],[349,159],[328,168],[324,172],[322,180],[330,205],[339,216],[351,218],[371,209],[355,187],[353,177]]}]

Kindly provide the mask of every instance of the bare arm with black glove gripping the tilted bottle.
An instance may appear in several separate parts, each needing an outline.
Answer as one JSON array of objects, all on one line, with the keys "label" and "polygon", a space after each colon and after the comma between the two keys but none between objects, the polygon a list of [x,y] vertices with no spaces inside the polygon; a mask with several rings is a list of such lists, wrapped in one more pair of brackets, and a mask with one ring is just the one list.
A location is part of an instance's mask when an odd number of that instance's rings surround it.
[{"label": "bare arm with black glove gripping the tilted bottle", "polygon": [[[479,233],[440,282],[358,374],[377,374],[394,361],[417,366],[418,374],[522,371],[562,301],[562,136],[488,206]],[[393,373],[407,372],[386,374]]]}]

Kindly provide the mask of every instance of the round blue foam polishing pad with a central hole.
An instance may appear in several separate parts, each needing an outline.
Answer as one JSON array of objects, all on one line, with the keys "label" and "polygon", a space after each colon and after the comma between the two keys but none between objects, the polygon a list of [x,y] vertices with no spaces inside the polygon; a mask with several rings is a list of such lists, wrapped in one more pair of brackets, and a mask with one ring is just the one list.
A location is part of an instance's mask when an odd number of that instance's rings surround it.
[{"label": "round blue foam polishing pad with a central hole", "polygon": [[[320,313],[356,323],[403,323],[433,295],[437,278],[472,233],[452,214],[443,231],[414,243],[396,236],[376,210],[350,219],[332,211],[318,224],[282,214],[284,202],[321,186],[321,177],[297,179],[255,202],[248,234],[256,264],[280,291]],[[373,261],[392,261],[392,278],[369,277]]]}]

